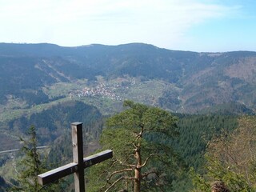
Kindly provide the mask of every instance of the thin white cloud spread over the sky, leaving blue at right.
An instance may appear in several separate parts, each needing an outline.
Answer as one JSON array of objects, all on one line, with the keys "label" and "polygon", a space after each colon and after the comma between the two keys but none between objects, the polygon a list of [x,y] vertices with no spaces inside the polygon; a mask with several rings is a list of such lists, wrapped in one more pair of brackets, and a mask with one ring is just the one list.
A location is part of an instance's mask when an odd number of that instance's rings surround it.
[{"label": "thin white cloud spread over the sky, leaving blue at right", "polygon": [[[62,46],[146,42],[170,48],[186,30],[235,14],[239,6],[196,0],[1,1],[1,42],[54,42]],[[26,26],[26,27],[24,27]]]}]

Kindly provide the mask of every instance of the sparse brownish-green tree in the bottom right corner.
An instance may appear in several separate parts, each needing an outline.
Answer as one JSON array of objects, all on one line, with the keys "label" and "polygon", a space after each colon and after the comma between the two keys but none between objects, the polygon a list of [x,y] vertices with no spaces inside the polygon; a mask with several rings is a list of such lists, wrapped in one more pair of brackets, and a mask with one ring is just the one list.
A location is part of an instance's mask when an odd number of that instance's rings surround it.
[{"label": "sparse brownish-green tree in the bottom right corner", "polygon": [[256,118],[238,119],[234,133],[215,137],[206,153],[206,174],[194,177],[197,190],[209,190],[210,182],[225,183],[230,191],[256,190]]}]

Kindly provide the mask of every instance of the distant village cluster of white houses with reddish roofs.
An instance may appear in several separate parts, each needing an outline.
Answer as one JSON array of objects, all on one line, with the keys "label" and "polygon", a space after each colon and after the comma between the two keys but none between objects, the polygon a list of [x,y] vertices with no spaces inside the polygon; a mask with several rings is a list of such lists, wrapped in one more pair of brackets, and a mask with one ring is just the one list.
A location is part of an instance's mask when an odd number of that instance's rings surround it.
[{"label": "distant village cluster of white houses with reddish roofs", "polygon": [[79,98],[82,97],[103,97],[110,98],[115,101],[122,101],[122,97],[114,93],[114,89],[120,88],[120,85],[106,86],[104,82],[101,82],[98,86],[94,88],[85,87],[82,90],[77,90],[71,96],[77,95]]}]

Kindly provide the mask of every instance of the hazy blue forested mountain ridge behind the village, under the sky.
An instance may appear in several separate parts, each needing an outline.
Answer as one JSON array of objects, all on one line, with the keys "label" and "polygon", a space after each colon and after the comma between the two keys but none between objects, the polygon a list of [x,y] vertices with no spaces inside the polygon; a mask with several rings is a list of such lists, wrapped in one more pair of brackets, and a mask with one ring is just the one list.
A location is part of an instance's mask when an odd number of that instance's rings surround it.
[{"label": "hazy blue forested mountain ridge behind the village, under the sky", "polygon": [[[8,95],[47,100],[42,90],[58,82],[134,77],[158,79],[176,87],[159,95],[162,107],[194,113],[222,103],[238,102],[254,109],[256,52],[197,53],[166,50],[143,43],[118,46],[93,44],[0,43],[2,104]],[[46,102],[46,101],[45,101]],[[168,104],[169,103],[169,104]],[[168,107],[167,107],[168,108]]]}]

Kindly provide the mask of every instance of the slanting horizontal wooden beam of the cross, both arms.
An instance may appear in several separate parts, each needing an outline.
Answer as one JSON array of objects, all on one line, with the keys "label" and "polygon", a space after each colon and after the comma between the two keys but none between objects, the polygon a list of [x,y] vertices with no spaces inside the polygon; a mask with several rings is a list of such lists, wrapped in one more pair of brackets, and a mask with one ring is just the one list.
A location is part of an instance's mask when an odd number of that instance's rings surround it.
[{"label": "slanting horizontal wooden beam of the cross, both arms", "polygon": [[[106,159],[113,157],[112,150],[104,150],[98,154],[90,155],[89,157],[83,158],[83,168],[93,166],[99,162],[103,162]],[[60,166],[54,170],[47,171],[44,174],[38,175],[38,183],[42,186],[49,182],[54,182],[59,178],[63,178],[69,174],[74,174],[78,171],[78,163],[71,162],[65,166]]]}]

